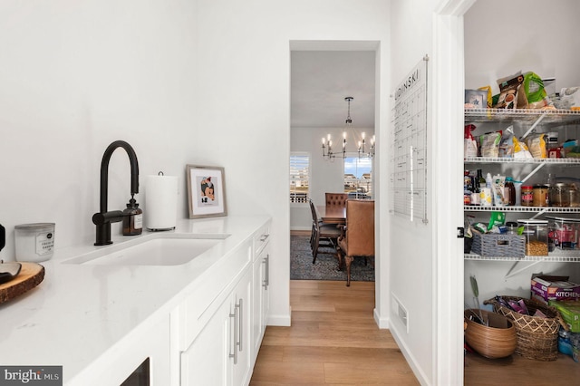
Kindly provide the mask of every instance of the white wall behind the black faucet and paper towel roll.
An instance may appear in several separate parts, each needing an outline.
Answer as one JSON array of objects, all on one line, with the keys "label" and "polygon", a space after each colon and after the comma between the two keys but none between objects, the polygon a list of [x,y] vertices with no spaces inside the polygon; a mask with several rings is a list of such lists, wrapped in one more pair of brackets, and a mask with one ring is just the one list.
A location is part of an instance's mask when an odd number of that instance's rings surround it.
[{"label": "white wall behind the black faucet and paper towel roll", "polygon": [[[127,140],[144,176],[180,178],[196,134],[195,12],[190,1],[3,1],[0,4],[0,222],[14,259],[14,226],[56,223],[56,248],[94,241],[99,170]],[[130,198],[126,154],[110,166],[109,207]],[[146,212],[145,208],[145,212]],[[119,224],[113,225],[119,231]],[[47,273],[50,275],[50,273]]]}]

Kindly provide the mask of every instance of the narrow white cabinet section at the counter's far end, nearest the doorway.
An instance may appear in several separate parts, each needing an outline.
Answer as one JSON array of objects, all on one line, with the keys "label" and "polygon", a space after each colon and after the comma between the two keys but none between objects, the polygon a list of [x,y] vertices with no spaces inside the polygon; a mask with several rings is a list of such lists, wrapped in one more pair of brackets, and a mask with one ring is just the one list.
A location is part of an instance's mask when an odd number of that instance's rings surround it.
[{"label": "narrow white cabinet section at the counter's far end, nearest the doorway", "polygon": [[270,245],[269,226],[254,237],[254,261],[252,263],[252,366],[256,363],[268,318],[270,304]]}]

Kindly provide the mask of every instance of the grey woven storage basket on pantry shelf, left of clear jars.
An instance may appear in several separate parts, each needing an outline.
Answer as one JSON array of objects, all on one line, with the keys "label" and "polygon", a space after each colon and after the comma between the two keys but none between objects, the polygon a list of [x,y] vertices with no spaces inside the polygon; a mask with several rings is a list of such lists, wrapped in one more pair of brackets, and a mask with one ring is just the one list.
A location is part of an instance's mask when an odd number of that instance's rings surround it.
[{"label": "grey woven storage basket on pantry shelf, left of clear jars", "polygon": [[479,256],[524,257],[526,238],[517,235],[473,235],[471,252]]}]

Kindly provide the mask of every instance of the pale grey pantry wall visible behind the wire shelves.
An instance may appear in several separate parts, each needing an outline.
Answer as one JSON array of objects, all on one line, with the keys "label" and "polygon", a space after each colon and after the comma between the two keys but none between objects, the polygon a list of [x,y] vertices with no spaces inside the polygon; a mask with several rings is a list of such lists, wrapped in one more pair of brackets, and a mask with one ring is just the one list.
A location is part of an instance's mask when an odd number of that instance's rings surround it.
[{"label": "pale grey pantry wall visible behind the wire shelves", "polygon": [[[499,16],[502,14],[519,14],[518,19],[526,23],[501,23]],[[497,80],[517,71],[533,71],[543,78],[556,77],[555,88],[558,92],[563,87],[579,86],[577,63],[580,60],[580,42],[575,38],[579,14],[580,3],[575,0],[557,0],[551,6],[540,0],[477,2],[465,14],[466,88],[491,85],[497,93]],[[490,29],[496,32],[490,33]],[[499,46],[498,39],[489,38],[493,35],[498,37],[499,31],[503,36],[514,36],[513,43]],[[538,176],[545,171],[542,170]],[[527,216],[520,215],[518,218]],[[466,303],[474,304],[470,275],[476,275],[478,279],[480,300],[496,294],[529,297],[530,278],[535,273],[570,275],[576,282],[580,280],[580,267],[576,263],[521,263],[512,271],[516,275],[510,274],[505,278],[512,265],[512,262],[466,261]]]}]

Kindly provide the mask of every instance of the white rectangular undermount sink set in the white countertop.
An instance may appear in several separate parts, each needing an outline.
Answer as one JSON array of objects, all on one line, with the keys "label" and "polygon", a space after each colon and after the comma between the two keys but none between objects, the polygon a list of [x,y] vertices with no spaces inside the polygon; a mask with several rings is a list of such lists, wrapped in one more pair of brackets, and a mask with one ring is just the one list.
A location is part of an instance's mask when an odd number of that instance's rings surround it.
[{"label": "white rectangular undermount sink set in the white countertop", "polygon": [[78,265],[182,265],[223,243],[229,235],[160,234],[104,247],[66,260]]}]

